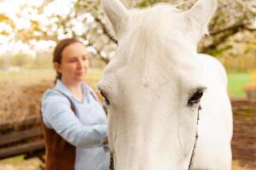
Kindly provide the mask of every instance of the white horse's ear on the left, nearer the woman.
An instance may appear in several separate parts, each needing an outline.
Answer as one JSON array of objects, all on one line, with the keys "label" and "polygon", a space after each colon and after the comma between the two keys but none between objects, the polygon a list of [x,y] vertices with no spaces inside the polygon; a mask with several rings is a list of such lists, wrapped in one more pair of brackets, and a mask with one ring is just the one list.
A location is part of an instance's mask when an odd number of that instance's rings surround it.
[{"label": "white horse's ear on the left, nearer the woman", "polygon": [[102,0],[102,7],[113,26],[115,37],[119,38],[128,19],[128,10],[119,0]]}]

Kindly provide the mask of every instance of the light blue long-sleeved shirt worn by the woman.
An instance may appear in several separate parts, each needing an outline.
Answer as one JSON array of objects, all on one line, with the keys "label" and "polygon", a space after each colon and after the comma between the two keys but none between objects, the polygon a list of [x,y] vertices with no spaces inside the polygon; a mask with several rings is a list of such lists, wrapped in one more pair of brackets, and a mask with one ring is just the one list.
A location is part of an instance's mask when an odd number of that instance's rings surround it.
[{"label": "light blue long-sleeved shirt worn by the woman", "polygon": [[63,139],[76,146],[76,170],[107,170],[109,152],[102,144],[107,137],[107,117],[102,105],[90,94],[93,90],[83,83],[83,101],[80,102],[61,80],[57,80],[55,89],[71,99],[76,115],[67,97],[49,89],[42,99],[45,126],[55,129]]}]

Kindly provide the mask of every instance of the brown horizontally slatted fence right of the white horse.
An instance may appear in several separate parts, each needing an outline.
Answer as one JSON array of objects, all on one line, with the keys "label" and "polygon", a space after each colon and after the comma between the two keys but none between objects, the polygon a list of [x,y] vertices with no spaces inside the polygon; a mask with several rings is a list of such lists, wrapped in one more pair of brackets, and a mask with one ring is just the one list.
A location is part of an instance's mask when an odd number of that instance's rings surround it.
[{"label": "brown horizontally slatted fence right of the white horse", "polygon": [[256,167],[256,102],[233,100],[233,159]]}]

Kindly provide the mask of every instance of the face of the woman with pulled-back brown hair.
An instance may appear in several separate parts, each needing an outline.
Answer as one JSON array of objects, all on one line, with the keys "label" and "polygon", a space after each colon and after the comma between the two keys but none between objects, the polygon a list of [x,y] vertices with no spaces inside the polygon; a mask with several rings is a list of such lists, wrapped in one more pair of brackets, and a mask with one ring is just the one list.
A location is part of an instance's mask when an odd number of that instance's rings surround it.
[{"label": "face of the woman with pulled-back brown hair", "polygon": [[74,42],[63,49],[61,64],[55,63],[55,68],[61,73],[65,82],[81,82],[89,69],[89,59],[84,44]]}]

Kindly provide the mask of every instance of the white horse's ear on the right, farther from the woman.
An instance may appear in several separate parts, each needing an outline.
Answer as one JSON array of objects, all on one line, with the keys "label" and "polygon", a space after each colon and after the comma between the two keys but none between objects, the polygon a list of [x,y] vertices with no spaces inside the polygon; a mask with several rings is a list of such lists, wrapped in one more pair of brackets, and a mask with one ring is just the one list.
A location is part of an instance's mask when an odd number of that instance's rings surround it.
[{"label": "white horse's ear on the right, farther from the woman", "polygon": [[201,40],[201,36],[208,33],[208,23],[212,18],[218,0],[198,0],[195,5],[185,12],[189,19],[189,27],[193,27],[193,37],[195,42]]}]

